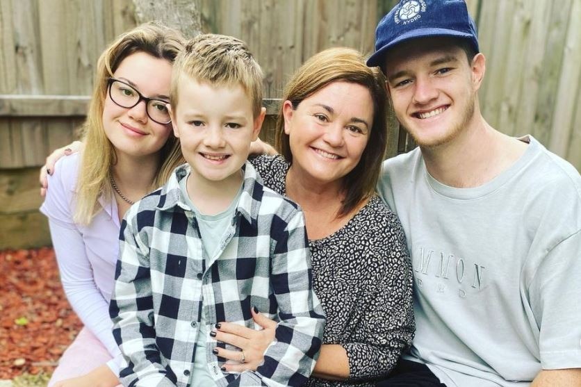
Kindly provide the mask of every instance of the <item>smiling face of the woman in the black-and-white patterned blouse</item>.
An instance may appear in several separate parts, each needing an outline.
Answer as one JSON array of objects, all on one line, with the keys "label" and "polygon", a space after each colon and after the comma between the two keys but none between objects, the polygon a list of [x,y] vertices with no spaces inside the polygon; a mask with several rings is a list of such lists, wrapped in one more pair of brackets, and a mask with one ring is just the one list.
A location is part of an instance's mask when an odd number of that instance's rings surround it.
[{"label": "smiling face of the woman in the black-and-white patterned blouse", "polygon": [[357,166],[373,126],[373,100],[357,83],[336,81],[283,106],[293,169],[320,183],[341,183]]}]

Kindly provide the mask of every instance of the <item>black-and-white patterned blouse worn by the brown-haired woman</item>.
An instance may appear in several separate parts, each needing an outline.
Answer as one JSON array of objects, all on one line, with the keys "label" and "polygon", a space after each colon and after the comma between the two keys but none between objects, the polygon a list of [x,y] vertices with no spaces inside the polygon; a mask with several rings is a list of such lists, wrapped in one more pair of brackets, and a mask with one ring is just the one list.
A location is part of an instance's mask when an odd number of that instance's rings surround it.
[{"label": "black-and-white patterned blouse worn by the brown-haired woman", "polygon": [[[282,156],[251,159],[265,186],[286,194],[290,165]],[[322,343],[339,344],[350,377],[311,377],[305,386],[374,386],[414,337],[412,272],[398,217],[377,195],[330,236],[309,240],[313,286],[327,324]]]}]

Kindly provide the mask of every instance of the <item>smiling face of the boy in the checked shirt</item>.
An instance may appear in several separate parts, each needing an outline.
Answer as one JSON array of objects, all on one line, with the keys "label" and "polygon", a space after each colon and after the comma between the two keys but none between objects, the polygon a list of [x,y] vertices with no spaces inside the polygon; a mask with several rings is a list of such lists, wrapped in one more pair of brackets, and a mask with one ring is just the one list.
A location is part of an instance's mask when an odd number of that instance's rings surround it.
[{"label": "smiling face of the boy in the checked shirt", "polygon": [[242,85],[216,86],[182,75],[177,93],[172,124],[192,167],[193,186],[195,181],[239,179],[237,172],[248,157],[250,142],[258,138],[264,110],[254,117],[252,99]]}]

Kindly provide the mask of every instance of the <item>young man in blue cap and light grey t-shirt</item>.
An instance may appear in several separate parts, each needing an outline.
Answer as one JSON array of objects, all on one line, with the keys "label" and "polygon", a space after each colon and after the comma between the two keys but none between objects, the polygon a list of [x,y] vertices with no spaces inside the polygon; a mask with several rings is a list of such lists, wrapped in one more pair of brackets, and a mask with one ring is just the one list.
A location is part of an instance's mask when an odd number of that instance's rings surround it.
[{"label": "young man in blue cap and light grey t-shirt", "polygon": [[407,235],[417,326],[379,386],[581,386],[579,173],[486,123],[464,1],[401,1],[375,49],[368,65],[419,145],[379,183]]}]

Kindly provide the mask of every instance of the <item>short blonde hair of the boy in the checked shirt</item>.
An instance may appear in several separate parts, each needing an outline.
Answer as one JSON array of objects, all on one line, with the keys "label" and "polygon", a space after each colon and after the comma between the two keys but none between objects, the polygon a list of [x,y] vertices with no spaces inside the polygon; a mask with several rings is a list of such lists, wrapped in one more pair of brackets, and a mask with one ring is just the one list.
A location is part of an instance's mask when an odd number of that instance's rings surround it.
[{"label": "short blonde hair of the boy in the checked shirt", "polygon": [[262,108],[262,69],[242,40],[206,33],[186,43],[174,63],[170,99],[177,108],[178,88],[183,76],[216,86],[241,85],[252,99],[252,114]]}]

